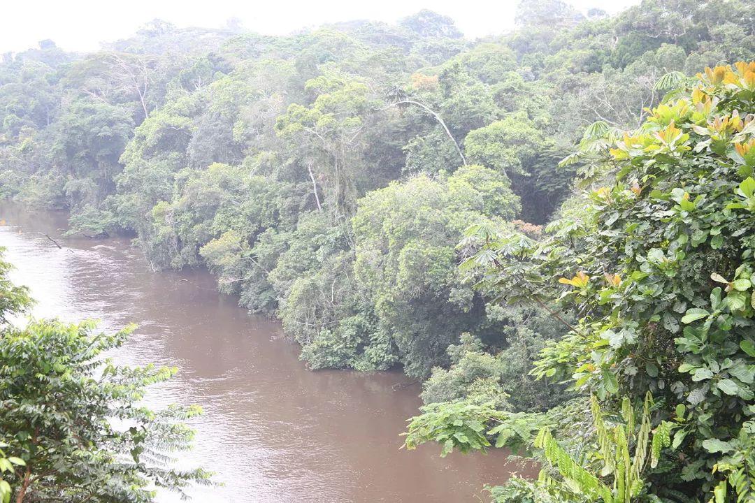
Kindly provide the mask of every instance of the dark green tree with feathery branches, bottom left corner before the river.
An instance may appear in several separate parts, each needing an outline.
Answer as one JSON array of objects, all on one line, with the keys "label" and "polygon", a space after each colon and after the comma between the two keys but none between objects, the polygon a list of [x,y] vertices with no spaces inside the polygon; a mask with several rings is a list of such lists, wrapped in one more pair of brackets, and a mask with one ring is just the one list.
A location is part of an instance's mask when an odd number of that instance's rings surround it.
[{"label": "dark green tree with feathery branches, bottom left corner before the river", "polygon": [[199,407],[140,404],[146,386],[177,370],[116,367],[102,353],[122,345],[131,327],[112,335],[93,328],[32,321],[0,334],[0,442],[23,460],[5,475],[15,501],[153,501],[155,488],[183,493],[209,483],[208,472],[169,467],[170,452],[193,437],[177,421]]}]

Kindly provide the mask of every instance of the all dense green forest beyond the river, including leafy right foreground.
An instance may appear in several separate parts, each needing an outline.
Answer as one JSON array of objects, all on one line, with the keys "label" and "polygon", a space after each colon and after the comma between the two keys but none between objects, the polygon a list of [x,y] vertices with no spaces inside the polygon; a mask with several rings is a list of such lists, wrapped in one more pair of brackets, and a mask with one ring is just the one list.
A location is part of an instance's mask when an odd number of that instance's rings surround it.
[{"label": "all dense green forest beyond the river, including leafy right foreground", "polygon": [[0,195],[208,268],[313,369],[426,379],[408,446],[543,455],[499,501],[751,502],[753,7],[42,41],[0,63]]}]

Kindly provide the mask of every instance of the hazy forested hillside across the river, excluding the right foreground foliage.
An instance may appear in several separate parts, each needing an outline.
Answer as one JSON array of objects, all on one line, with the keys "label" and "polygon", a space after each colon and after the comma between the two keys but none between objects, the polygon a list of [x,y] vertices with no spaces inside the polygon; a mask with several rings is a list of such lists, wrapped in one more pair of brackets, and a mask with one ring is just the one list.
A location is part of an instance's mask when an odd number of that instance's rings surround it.
[{"label": "hazy forested hillside across the river, excluding the right foreground foliage", "polygon": [[401,365],[432,372],[426,402],[544,409],[563,396],[527,372],[578,313],[476,290],[464,230],[539,238],[587,126],[637,127],[662,75],[752,57],[755,20],[745,1],[538,0],[516,22],[477,41],[430,11],[276,37],[155,21],[93,54],[42,41],[0,65],[0,194],[133,235],[156,270],[206,266],[310,367]]}]

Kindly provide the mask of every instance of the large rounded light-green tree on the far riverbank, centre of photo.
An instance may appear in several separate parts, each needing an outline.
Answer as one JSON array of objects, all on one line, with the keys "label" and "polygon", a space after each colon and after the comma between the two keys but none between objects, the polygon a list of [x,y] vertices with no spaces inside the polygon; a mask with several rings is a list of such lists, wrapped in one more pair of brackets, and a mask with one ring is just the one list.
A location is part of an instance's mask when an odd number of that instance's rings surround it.
[{"label": "large rounded light-green tree on the far riverbank, centre of photo", "polygon": [[455,243],[476,219],[511,218],[518,204],[506,177],[482,166],[447,179],[417,176],[360,201],[356,281],[410,375],[445,363],[449,344],[485,324],[484,302],[455,270]]}]

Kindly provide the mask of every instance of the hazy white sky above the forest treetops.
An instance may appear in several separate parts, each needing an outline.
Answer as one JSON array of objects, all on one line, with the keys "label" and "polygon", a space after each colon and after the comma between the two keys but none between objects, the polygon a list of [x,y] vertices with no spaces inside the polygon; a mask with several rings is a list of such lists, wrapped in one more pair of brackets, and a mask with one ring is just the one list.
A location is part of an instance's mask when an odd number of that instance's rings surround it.
[{"label": "hazy white sky above the forest treetops", "polygon": [[[569,0],[566,0],[569,2]],[[223,26],[238,17],[254,32],[282,35],[306,26],[356,19],[395,22],[421,8],[452,17],[470,38],[513,25],[518,0],[7,0],[0,11],[0,54],[51,38],[68,51],[93,51],[125,38],[156,17],[180,27]],[[639,0],[572,0],[586,10],[615,13]]]}]

